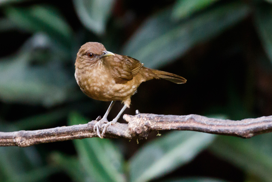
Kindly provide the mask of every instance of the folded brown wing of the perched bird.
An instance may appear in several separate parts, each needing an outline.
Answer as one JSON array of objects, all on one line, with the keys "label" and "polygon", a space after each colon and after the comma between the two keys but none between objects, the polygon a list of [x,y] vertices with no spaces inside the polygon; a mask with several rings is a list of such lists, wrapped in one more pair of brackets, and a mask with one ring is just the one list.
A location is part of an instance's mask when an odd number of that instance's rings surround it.
[{"label": "folded brown wing of the perched bird", "polygon": [[132,80],[133,76],[136,75],[144,65],[137,59],[123,55],[105,57],[104,62],[107,64],[107,67],[110,68],[109,71],[115,82],[121,84]]}]

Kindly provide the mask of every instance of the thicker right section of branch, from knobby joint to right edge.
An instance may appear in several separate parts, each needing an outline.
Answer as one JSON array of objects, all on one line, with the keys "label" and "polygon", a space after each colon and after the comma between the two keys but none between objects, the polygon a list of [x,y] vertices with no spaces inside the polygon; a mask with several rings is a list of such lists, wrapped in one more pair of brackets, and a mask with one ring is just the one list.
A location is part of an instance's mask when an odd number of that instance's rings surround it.
[{"label": "thicker right section of branch, from knobby joint to right edge", "polygon": [[124,115],[132,137],[147,137],[154,130],[190,130],[251,138],[272,131],[272,116],[263,116],[241,121],[209,118],[196,114],[185,116],[138,114]]}]

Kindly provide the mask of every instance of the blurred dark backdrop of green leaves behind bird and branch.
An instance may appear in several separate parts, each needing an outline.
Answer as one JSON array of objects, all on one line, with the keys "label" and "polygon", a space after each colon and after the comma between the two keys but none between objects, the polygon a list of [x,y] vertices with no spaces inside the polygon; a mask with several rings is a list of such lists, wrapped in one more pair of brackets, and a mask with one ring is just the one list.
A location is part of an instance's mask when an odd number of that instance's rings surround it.
[{"label": "blurred dark backdrop of green leaves behind bird and branch", "polygon": [[[272,115],[271,0],[0,0],[0,40],[0,131],[104,115],[110,102],[88,98],[74,78],[88,41],[187,79],[142,83],[125,114]],[[272,134],[159,134],[0,147],[0,181],[272,181]]]}]

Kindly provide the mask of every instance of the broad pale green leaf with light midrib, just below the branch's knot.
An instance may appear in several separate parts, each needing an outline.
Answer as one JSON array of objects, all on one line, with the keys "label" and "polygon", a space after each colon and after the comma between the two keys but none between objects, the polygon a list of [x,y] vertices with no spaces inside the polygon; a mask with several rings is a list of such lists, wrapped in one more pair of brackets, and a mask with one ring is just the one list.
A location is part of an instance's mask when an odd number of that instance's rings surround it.
[{"label": "broad pale green leaf with light midrib, just below the branch's knot", "polygon": [[169,173],[192,160],[214,138],[212,134],[173,131],[148,143],[129,160],[131,181],[148,181]]}]

